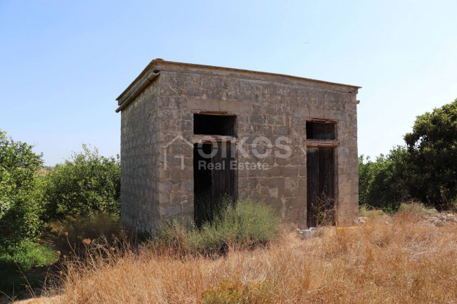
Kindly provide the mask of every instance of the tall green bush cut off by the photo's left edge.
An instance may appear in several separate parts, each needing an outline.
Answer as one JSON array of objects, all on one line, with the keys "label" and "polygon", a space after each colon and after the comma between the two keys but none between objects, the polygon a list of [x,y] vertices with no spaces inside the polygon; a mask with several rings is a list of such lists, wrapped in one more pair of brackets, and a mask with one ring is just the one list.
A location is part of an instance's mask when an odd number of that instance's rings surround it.
[{"label": "tall green bush cut off by the photo's left edge", "polygon": [[36,199],[41,157],[32,152],[32,145],[14,141],[0,130],[0,244],[4,249],[33,239],[41,229]]}]

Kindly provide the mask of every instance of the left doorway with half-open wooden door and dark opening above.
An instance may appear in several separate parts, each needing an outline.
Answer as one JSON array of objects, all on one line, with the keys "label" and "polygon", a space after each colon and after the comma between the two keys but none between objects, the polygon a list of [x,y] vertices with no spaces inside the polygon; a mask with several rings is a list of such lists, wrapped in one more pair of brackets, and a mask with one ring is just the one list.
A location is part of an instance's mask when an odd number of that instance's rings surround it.
[{"label": "left doorway with half-open wooden door and dark opening above", "polygon": [[[236,161],[238,115],[201,110],[191,112],[194,119],[191,140],[194,144],[194,220],[201,225],[205,220],[212,220],[212,216],[226,204],[224,200],[238,198],[238,171],[231,168],[231,162]],[[198,124],[197,128],[195,124]],[[210,157],[203,157],[201,152]]]}]

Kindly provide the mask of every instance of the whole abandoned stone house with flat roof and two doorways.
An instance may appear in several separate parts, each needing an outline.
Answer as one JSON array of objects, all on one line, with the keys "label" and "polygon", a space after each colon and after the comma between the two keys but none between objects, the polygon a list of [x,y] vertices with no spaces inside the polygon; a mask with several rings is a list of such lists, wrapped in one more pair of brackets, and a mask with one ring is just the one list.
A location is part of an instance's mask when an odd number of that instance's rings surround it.
[{"label": "whole abandoned stone house with flat roof and two doorways", "polygon": [[254,198],[297,227],[358,212],[360,87],[155,59],[117,98],[121,217],[151,230],[202,197]]}]

